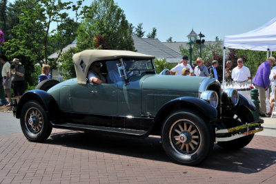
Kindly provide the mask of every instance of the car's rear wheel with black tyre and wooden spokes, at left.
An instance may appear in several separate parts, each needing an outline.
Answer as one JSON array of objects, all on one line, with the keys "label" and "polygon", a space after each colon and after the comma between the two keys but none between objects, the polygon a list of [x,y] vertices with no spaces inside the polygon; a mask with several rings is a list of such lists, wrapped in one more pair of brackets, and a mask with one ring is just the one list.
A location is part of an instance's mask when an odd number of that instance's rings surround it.
[{"label": "car's rear wheel with black tyre and wooden spokes, at left", "polygon": [[24,136],[33,142],[43,142],[52,131],[46,112],[37,101],[29,101],[23,105],[20,125]]}]

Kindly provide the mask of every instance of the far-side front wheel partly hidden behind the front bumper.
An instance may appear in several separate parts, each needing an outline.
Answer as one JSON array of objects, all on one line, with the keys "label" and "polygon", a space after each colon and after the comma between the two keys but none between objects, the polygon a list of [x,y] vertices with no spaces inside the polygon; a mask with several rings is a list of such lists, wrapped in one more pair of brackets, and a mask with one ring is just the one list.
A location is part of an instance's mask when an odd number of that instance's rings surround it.
[{"label": "far-side front wheel partly hidden behind the front bumper", "polygon": [[[239,112],[235,114],[233,117],[235,122],[231,124],[231,127],[237,127],[239,125],[244,125],[246,122],[254,122],[253,114],[246,108],[239,109]],[[226,128],[231,128],[226,127]],[[226,142],[217,142],[217,145],[223,147],[224,149],[241,149],[249,144],[249,142],[253,139],[254,134],[249,136],[244,136],[242,138],[238,138],[235,140],[230,140]]]}]

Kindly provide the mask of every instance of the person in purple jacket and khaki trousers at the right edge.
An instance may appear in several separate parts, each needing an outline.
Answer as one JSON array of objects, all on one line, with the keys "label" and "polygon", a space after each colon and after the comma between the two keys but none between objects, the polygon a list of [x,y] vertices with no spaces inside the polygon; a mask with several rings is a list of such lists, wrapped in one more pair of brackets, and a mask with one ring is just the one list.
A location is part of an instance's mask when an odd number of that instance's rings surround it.
[{"label": "person in purple jacket and khaki trousers at the right edge", "polygon": [[266,90],[270,86],[270,68],[275,64],[275,57],[269,57],[266,62],[259,65],[257,73],[253,79],[256,89],[259,91],[259,115],[267,117],[266,115]]}]

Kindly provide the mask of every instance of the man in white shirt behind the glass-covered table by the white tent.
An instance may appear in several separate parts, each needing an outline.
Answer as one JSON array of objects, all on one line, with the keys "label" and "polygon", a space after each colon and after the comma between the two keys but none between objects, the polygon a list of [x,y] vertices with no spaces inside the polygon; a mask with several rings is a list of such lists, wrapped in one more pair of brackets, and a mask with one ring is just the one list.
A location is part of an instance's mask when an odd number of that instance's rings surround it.
[{"label": "man in white shirt behind the glass-covered table by the white tent", "polygon": [[234,82],[243,86],[246,84],[247,80],[250,79],[249,68],[243,65],[244,61],[242,58],[237,59],[237,66],[232,71],[232,78]]}]

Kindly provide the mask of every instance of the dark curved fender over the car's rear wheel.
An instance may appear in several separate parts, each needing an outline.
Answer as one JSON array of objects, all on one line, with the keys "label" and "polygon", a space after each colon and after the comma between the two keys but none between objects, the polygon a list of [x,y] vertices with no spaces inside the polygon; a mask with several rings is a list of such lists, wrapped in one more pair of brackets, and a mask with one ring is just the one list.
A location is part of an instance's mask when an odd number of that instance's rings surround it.
[{"label": "dark curved fender over the car's rear wheel", "polygon": [[[34,89],[31,91],[27,91],[20,98],[19,104],[17,105],[17,109],[15,111],[16,118],[20,118],[23,105],[30,100],[36,100],[37,102],[39,102],[39,104],[41,104],[41,107],[43,107],[43,109],[48,115],[50,115],[50,117],[52,115],[55,115],[55,112],[57,113],[59,109],[57,106],[57,102],[54,98],[52,98],[49,93],[40,89]],[[50,110],[53,112],[53,114],[50,114]]]}]

